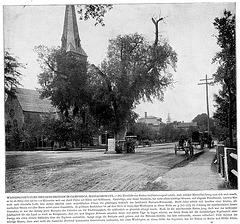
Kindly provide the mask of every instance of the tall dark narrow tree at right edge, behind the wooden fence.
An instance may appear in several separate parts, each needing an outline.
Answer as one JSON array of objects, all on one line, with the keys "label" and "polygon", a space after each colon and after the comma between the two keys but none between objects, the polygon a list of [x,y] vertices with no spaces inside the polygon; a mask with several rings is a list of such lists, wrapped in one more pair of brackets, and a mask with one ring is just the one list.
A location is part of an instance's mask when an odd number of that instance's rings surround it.
[{"label": "tall dark narrow tree at right edge, behind the wooden fence", "polygon": [[[222,84],[219,96],[215,96],[218,109],[214,116],[217,119],[225,119],[223,123],[227,124],[230,146],[232,146],[233,129],[236,128],[235,15],[225,10],[223,17],[215,18],[213,25],[218,30],[217,44],[221,48],[220,52],[213,58],[213,62],[219,65],[214,74],[214,79],[216,82]],[[226,114],[227,117],[223,116]]]}]

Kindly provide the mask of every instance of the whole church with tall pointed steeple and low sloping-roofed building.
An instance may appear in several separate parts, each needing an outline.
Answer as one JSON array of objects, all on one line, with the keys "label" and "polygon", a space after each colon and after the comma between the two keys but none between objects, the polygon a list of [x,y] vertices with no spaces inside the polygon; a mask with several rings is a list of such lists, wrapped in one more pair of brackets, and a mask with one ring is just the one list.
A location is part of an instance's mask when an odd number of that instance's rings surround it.
[{"label": "whole church with tall pointed steeple and low sloping-roofed building", "polygon": [[[74,54],[79,60],[87,63],[88,56],[81,46],[74,5],[67,5],[65,8],[61,42],[63,50]],[[17,88],[15,95],[16,97],[8,97],[5,102],[7,148],[11,147],[9,140],[11,130],[22,130],[27,122],[41,120],[44,116],[58,116],[57,109],[52,106],[50,100],[40,99],[40,93],[37,90]],[[44,136],[36,136],[34,147],[48,146],[50,146],[50,143],[45,140]]]}]

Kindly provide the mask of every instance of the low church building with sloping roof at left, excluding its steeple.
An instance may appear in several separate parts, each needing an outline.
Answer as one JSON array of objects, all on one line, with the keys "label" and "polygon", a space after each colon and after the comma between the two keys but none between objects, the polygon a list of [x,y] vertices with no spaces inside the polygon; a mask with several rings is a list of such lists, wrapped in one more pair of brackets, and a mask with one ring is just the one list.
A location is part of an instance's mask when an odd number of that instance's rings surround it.
[{"label": "low church building with sloping roof at left, excluding its steeple", "polygon": [[[8,142],[10,135],[20,134],[24,130],[24,124],[34,124],[34,122],[49,116],[58,116],[57,110],[52,106],[50,100],[41,99],[36,90],[17,88],[15,97],[8,97],[5,102],[7,148],[11,148],[11,143]],[[44,136],[36,136],[34,146],[46,147],[47,142],[44,140]]]}]

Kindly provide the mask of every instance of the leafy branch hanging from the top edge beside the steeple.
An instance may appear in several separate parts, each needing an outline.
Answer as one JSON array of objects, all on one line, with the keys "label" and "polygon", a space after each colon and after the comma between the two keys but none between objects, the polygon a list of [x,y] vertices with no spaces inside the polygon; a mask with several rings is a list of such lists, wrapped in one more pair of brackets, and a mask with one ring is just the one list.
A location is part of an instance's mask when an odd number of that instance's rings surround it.
[{"label": "leafy branch hanging from the top edge beside the steeple", "polygon": [[112,9],[112,5],[78,5],[77,12],[79,13],[80,20],[95,19],[95,26],[101,24],[104,26],[103,18],[107,11]]}]

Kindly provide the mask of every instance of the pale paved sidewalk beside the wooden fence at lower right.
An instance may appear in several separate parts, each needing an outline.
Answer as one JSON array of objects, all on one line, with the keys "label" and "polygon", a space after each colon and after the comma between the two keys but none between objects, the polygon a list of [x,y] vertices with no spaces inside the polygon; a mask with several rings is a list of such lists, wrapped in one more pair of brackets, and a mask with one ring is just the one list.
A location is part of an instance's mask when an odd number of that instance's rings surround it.
[{"label": "pale paved sidewalk beside the wooden fence at lower right", "polygon": [[169,191],[218,190],[224,179],[214,169],[216,148],[204,149],[204,153],[184,167],[176,167],[154,183],[166,186]]}]

